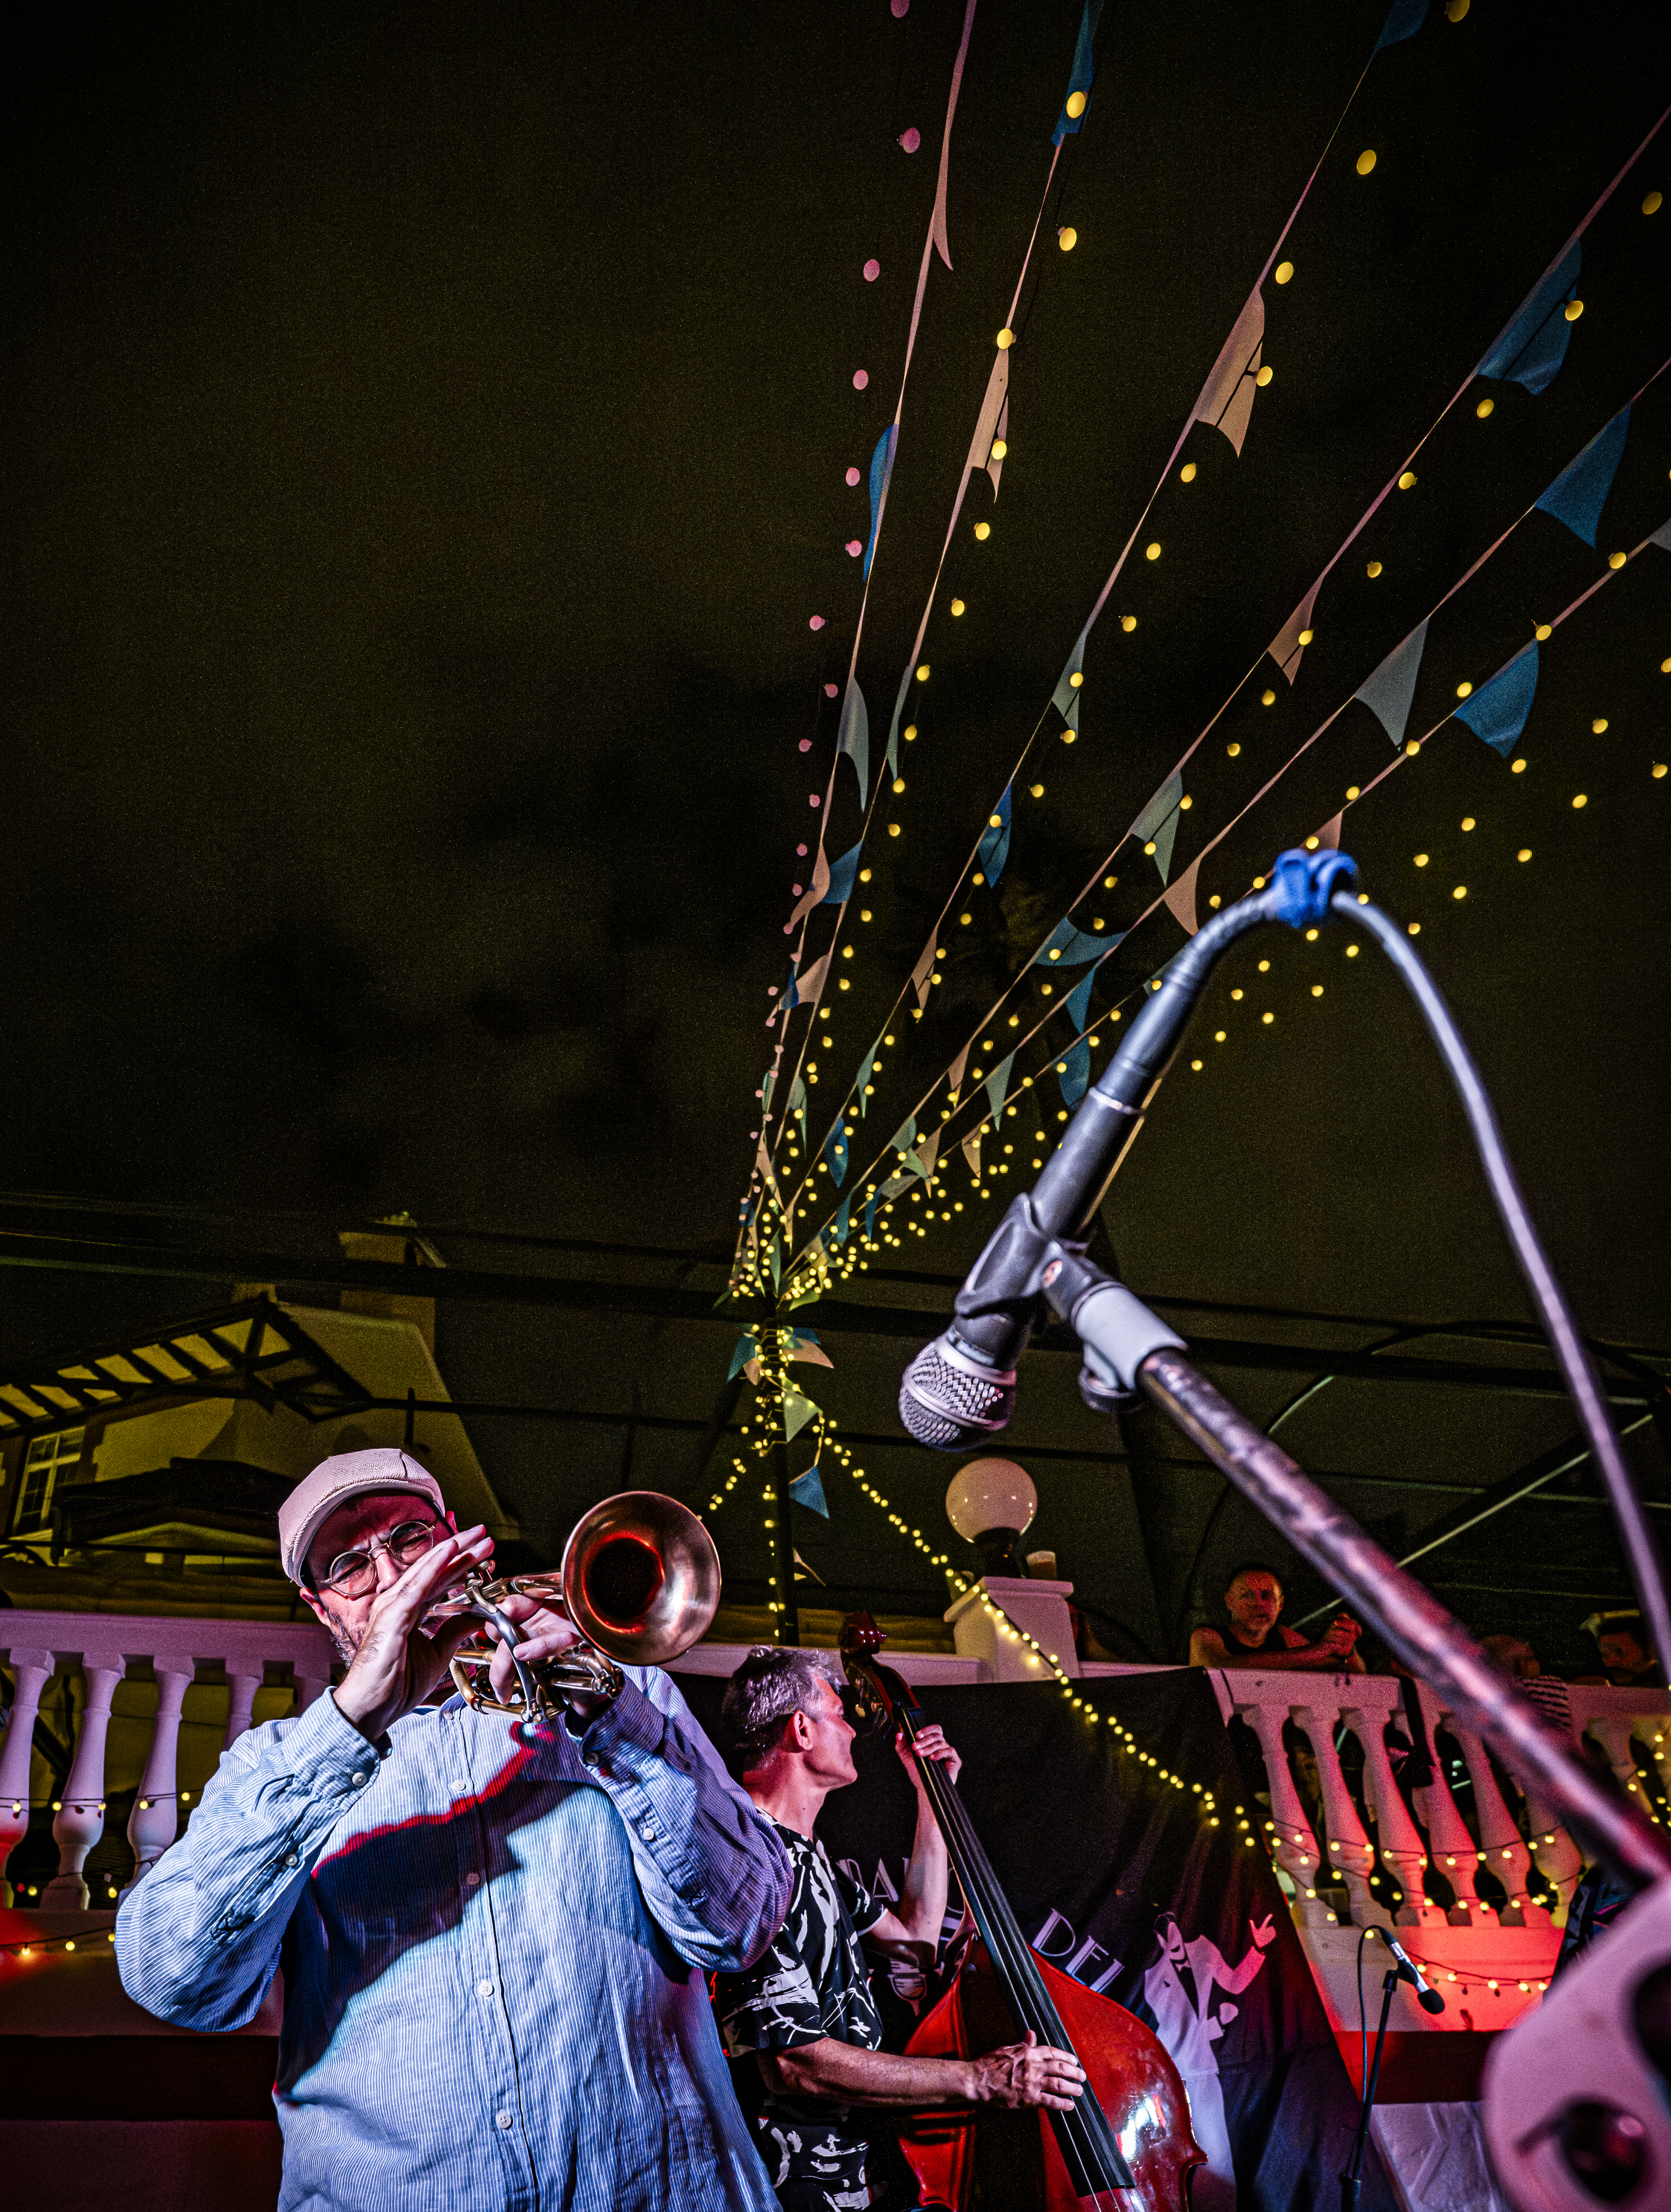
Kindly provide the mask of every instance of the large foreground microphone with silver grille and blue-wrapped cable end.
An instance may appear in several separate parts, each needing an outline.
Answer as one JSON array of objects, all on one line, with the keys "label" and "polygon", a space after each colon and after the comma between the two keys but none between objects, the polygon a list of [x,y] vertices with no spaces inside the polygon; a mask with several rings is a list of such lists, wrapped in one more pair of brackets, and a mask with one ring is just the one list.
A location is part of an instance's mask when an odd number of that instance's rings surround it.
[{"label": "large foreground microphone with silver grille and blue-wrapped cable end", "polygon": [[1284,852],[1262,891],[1216,914],[1185,945],[1085,1093],[1043,1175],[1010,1203],[975,1261],[957,1292],[953,1325],[906,1367],[900,1420],[919,1444],[968,1451],[1008,1429],[1015,1369],[1039,1323],[1050,1248],[1074,1250],[1087,1234],[1220,956],[1262,922],[1291,929],[1326,922],[1331,898],[1353,883],[1357,863],[1342,852]]}]

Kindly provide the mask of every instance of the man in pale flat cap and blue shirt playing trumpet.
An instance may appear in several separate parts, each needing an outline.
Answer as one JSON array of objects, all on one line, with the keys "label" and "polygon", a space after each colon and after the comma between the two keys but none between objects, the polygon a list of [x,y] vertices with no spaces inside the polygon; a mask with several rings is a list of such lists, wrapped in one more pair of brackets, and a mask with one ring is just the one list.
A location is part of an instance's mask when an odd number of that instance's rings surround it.
[{"label": "man in pale flat cap and blue shirt playing trumpet", "polygon": [[[431,1703],[480,1626],[435,1606],[491,1542],[402,1451],[325,1460],[278,1537],[343,1681],[239,1736],[117,1960],[210,2031],[283,1969],[281,2212],[771,2212],[705,1975],[765,1951],[791,1869],[674,1683],[606,1670],[522,1723]],[[524,1663],[579,1641],[533,1597],[502,1613]],[[511,1674],[500,1641],[495,1694]]]}]

